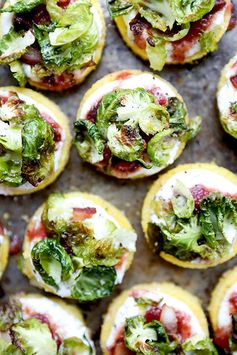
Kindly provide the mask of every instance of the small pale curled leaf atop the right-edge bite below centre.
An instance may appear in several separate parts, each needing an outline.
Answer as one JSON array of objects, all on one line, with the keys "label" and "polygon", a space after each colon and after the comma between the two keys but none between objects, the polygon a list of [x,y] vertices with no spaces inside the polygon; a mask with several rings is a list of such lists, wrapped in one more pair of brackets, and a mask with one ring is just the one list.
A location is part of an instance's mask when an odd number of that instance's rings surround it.
[{"label": "small pale curled leaf atop the right-edge bite below centre", "polygon": [[176,181],[174,193],[171,202],[175,215],[179,218],[190,218],[195,207],[190,190],[181,181]]}]

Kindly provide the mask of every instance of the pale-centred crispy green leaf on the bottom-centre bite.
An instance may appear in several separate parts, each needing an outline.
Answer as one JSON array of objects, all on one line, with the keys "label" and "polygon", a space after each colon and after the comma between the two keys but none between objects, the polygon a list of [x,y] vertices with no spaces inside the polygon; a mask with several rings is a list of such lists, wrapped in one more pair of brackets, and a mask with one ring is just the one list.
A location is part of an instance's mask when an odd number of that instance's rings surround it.
[{"label": "pale-centred crispy green leaf on the bottom-centre bite", "polygon": [[126,319],[125,343],[130,350],[144,355],[170,354],[177,347],[175,342],[169,341],[160,322],[146,323],[143,316]]}]

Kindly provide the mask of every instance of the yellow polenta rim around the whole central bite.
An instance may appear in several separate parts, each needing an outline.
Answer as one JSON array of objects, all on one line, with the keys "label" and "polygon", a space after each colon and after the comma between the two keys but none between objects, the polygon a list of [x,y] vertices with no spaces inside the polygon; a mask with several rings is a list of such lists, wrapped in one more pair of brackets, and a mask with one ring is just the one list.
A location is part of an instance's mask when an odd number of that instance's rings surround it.
[{"label": "yellow polenta rim around the whole central bite", "polygon": [[[129,75],[135,76],[135,75],[140,75],[140,74],[149,74],[149,75],[151,75],[151,77],[156,77],[160,82],[164,82],[170,88],[170,90],[173,91],[173,96],[176,96],[184,104],[185,109],[187,111],[187,107],[185,105],[185,102],[184,102],[182,96],[178,93],[176,88],[172,84],[170,84],[167,80],[161,78],[159,75],[155,75],[155,74],[153,74],[151,72],[148,72],[148,71],[134,70],[134,69],[124,69],[124,70],[121,70],[121,71],[117,71],[117,72],[105,75],[103,78],[101,78],[100,80],[96,81],[91,86],[91,88],[89,90],[87,90],[87,92],[83,96],[83,99],[81,100],[79,109],[77,111],[77,119],[84,118],[84,117],[82,117],[83,107],[87,103],[87,101],[90,100],[94,96],[94,93],[97,90],[99,90],[100,88],[103,88],[103,86],[105,86],[106,84],[108,84],[110,82],[113,82],[113,81],[116,81],[116,80],[126,80],[126,79],[123,79],[123,77],[126,78],[126,76],[129,77]],[[147,84],[147,83],[145,83],[145,84]],[[144,87],[144,86],[146,86],[146,85],[144,85],[144,83],[141,83],[141,87]],[[118,85],[118,88],[119,88],[119,85]],[[186,121],[186,123],[189,122],[188,115],[185,117],[185,121]],[[176,156],[174,157],[174,161],[182,154],[185,146],[186,146],[186,143],[180,142],[179,149],[177,150]],[[89,164],[93,165],[91,163],[89,163]],[[169,165],[171,165],[171,164],[169,164]],[[167,166],[162,167],[162,169],[165,169]],[[98,167],[96,167],[96,169],[98,171],[103,172],[106,175],[114,176],[116,178],[120,178],[120,177],[118,177],[116,175],[116,173],[113,173],[113,170],[109,173],[109,172],[104,171],[103,169],[99,169]],[[152,174],[149,174],[149,169],[146,169],[148,174],[145,174],[144,170],[143,171],[141,170],[141,172],[139,174],[136,174],[134,176],[132,174],[131,175],[128,174],[127,177],[122,177],[122,179],[140,179],[140,178],[144,178],[144,177],[147,177],[147,176],[150,176],[150,175],[154,175],[154,174],[156,174],[157,172],[159,172],[162,169],[157,168],[157,171],[155,171]]]}]

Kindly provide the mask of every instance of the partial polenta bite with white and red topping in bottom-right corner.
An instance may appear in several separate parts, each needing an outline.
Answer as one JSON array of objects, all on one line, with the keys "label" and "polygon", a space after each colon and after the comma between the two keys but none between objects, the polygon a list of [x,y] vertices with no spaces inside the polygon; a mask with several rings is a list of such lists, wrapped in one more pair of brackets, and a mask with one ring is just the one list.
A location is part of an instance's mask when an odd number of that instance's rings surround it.
[{"label": "partial polenta bite with white and red topping in bottom-right corner", "polygon": [[216,285],[209,305],[215,344],[225,354],[237,349],[237,267],[227,271]]}]

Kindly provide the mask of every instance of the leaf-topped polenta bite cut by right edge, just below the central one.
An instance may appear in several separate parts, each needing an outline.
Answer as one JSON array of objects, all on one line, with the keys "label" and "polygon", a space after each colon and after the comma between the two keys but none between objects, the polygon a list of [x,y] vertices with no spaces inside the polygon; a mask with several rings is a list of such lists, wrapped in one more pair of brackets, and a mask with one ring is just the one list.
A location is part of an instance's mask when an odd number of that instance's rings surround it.
[{"label": "leaf-topped polenta bite cut by right edge, just below the central one", "polygon": [[148,192],[142,226],[155,253],[186,268],[221,264],[237,252],[237,177],[214,164],[180,165]]}]

